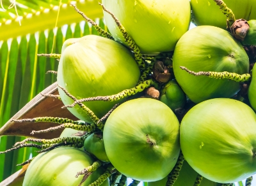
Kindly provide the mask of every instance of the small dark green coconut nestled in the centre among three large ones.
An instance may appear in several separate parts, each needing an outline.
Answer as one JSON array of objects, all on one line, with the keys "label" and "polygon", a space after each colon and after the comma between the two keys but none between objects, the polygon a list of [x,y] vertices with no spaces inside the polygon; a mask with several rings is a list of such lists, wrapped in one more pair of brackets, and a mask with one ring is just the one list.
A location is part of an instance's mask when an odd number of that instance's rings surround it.
[{"label": "small dark green coconut nestled in the centre among three large ones", "polygon": [[159,100],[174,111],[184,106],[186,103],[186,94],[180,88],[176,80],[170,80],[164,85]]}]

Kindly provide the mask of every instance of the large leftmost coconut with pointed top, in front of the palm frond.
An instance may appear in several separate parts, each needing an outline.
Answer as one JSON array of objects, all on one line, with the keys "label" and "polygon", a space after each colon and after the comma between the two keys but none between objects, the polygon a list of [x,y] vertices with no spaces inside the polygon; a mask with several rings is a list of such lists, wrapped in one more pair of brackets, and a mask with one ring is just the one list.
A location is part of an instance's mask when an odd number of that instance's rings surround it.
[{"label": "large leftmost coconut with pointed top, in front of the palm frond", "polygon": [[[139,78],[140,69],[132,53],[111,39],[88,35],[68,39],[63,44],[57,82],[77,99],[117,94],[134,87]],[[74,103],[63,90],[58,90],[64,104]],[[84,104],[101,118],[116,103],[91,101]],[[68,110],[77,118],[92,123],[78,105]]]}]

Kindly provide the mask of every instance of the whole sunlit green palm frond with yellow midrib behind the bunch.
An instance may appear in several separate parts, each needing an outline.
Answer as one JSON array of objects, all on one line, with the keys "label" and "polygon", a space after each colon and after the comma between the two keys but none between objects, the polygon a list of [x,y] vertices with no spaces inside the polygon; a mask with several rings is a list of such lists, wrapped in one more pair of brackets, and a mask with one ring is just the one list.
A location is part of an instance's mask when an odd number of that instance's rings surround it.
[{"label": "whole sunlit green palm frond with yellow midrib behind the bunch", "polygon": [[[57,27],[58,0],[2,1],[0,11],[0,127],[17,111],[46,87],[56,82],[56,75],[45,75],[49,70],[57,71],[56,59],[37,57],[36,54],[60,54],[63,41],[86,34],[97,34],[83,17],[62,0]],[[74,1],[73,1],[74,2]],[[92,19],[102,17],[98,1],[76,1],[77,8]],[[19,25],[17,14],[22,17]],[[104,27],[103,21],[100,25]],[[53,45],[54,44],[54,45]],[[3,136],[0,151],[12,148],[24,137]],[[0,182],[21,167],[15,166],[36,155],[35,149],[21,149],[0,155]],[[0,184],[1,185],[1,184]]]}]

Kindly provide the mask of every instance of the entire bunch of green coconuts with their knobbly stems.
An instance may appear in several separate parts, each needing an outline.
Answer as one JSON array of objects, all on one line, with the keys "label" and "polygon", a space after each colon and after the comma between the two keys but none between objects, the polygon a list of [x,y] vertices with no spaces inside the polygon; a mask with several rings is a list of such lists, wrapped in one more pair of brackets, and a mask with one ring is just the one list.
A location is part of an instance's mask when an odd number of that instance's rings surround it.
[{"label": "entire bunch of green coconuts with their knobbly stems", "polygon": [[256,2],[225,3],[103,0],[110,33],[73,4],[101,36],[67,39],[61,54],[45,55],[60,60],[60,95],[44,96],[79,120],[19,120],[60,124],[31,134],[64,129],[1,152],[40,149],[22,163],[23,185],[251,185]]}]

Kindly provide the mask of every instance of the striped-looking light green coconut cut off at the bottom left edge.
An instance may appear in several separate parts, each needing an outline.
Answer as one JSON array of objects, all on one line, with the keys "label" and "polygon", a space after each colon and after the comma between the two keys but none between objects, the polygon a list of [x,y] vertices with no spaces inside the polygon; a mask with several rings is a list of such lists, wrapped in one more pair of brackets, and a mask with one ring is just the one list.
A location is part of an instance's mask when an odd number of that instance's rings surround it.
[{"label": "striped-looking light green coconut cut off at the bottom left edge", "polygon": [[[77,172],[92,163],[92,157],[77,148],[54,148],[54,150],[39,154],[33,159],[26,171],[23,186],[77,186],[83,179],[83,175],[76,178]],[[97,169],[81,185],[90,185],[103,173],[104,169]],[[102,186],[109,186],[109,179],[105,180]]]}]

